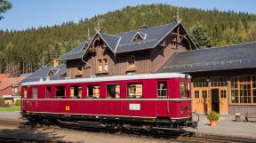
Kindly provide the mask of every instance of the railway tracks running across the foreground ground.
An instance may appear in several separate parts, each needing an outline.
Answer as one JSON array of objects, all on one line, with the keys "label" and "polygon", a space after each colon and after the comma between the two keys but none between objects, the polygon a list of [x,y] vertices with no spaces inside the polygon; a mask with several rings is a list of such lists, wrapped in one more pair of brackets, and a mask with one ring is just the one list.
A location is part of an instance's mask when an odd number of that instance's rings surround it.
[{"label": "railway tracks running across the foreground ground", "polygon": [[[0,124],[23,124],[23,125],[31,125],[27,122],[17,123],[18,121],[4,121],[0,120]],[[33,124],[35,125],[35,124]],[[156,139],[171,139],[170,141],[180,141],[180,142],[223,142],[223,143],[255,143],[256,139],[245,139],[245,138],[237,138],[237,137],[227,137],[227,136],[216,136],[210,134],[196,134],[195,132],[188,132],[188,131],[120,131],[116,129],[105,129],[105,128],[84,128],[84,127],[77,127],[72,125],[56,125],[51,124],[50,127],[60,127],[66,129],[73,129],[77,131],[94,131],[94,132],[106,132],[106,133],[115,133],[122,135],[138,135],[144,137],[153,137]],[[64,141],[59,140],[45,140],[45,139],[24,139],[24,138],[8,138],[8,137],[1,137],[0,142],[49,142],[49,143],[66,143]]]}]

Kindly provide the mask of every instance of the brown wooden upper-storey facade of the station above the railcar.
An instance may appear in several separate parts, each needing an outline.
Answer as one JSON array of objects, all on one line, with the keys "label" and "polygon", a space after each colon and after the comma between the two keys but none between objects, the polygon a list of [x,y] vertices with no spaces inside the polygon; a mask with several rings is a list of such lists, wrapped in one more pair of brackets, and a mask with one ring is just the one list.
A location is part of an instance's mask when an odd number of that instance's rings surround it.
[{"label": "brown wooden upper-storey facade of the station above the railcar", "polygon": [[[178,27],[179,28],[179,27]],[[135,52],[113,53],[100,36],[95,36],[88,50],[84,54],[83,60],[67,60],[67,76],[90,77],[92,75],[126,75],[128,73],[146,74],[156,73],[164,63],[169,60],[175,52],[190,50],[188,40],[173,36],[178,32],[175,28],[170,35],[165,36],[162,42],[153,49],[140,50]],[[184,33],[180,30],[180,35]],[[134,70],[129,70],[128,60],[134,57]],[[99,73],[97,60],[108,59],[108,72]],[[82,68],[82,75],[77,70]],[[81,70],[81,69],[80,69]]]}]

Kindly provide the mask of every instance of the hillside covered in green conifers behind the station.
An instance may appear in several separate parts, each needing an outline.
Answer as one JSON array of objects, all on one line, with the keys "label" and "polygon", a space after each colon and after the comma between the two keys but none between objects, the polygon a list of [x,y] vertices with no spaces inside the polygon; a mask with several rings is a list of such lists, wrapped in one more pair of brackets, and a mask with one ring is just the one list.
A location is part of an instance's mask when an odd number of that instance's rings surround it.
[{"label": "hillside covered in green conifers behind the station", "polygon": [[[115,12],[98,15],[101,29],[116,34],[138,29],[143,23],[148,27],[173,22],[177,7],[167,4],[125,7]],[[180,18],[193,39],[205,36],[201,47],[251,42],[256,39],[256,15],[244,12],[203,11],[179,9]],[[63,15],[64,16],[64,15]],[[1,22],[1,21],[0,21]],[[51,64],[88,35],[95,34],[97,16],[79,22],[66,22],[60,26],[28,28],[24,31],[0,31],[0,72],[29,73],[43,64]],[[88,30],[90,29],[90,30]],[[88,34],[89,31],[89,34]],[[198,31],[204,35],[198,35]],[[199,37],[200,39],[200,37]]]}]

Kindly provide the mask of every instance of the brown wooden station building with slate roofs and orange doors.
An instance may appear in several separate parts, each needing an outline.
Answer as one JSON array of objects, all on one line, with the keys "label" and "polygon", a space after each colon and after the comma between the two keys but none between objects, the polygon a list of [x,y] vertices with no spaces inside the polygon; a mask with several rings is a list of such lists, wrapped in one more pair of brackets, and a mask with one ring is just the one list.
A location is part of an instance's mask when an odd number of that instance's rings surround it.
[{"label": "brown wooden station building with slate roofs and orange doors", "polygon": [[69,78],[186,73],[192,75],[194,111],[233,115],[256,112],[255,53],[256,43],[199,50],[178,21],[116,35],[98,29],[60,60]]}]

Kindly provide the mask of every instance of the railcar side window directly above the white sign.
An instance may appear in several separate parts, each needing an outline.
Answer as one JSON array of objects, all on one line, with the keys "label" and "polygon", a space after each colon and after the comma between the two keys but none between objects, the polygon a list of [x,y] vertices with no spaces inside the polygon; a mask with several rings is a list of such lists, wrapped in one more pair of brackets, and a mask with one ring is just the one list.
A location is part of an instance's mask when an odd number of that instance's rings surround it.
[{"label": "railcar side window directly above the white sign", "polygon": [[128,90],[129,99],[142,99],[143,97],[142,83],[129,83],[127,90]]}]

